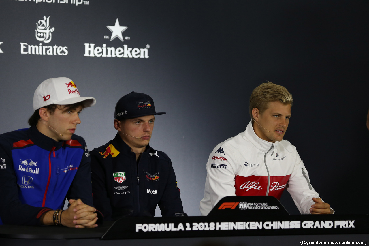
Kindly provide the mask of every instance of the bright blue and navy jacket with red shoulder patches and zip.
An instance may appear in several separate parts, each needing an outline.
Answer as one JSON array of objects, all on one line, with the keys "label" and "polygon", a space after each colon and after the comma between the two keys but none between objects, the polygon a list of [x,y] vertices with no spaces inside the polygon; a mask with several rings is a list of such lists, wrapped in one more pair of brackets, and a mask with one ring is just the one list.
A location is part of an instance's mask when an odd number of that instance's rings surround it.
[{"label": "bright blue and navy jacket with red shoulder patches and zip", "polygon": [[0,224],[39,225],[65,198],[92,206],[90,157],[75,134],[55,141],[35,126],[0,135]]}]

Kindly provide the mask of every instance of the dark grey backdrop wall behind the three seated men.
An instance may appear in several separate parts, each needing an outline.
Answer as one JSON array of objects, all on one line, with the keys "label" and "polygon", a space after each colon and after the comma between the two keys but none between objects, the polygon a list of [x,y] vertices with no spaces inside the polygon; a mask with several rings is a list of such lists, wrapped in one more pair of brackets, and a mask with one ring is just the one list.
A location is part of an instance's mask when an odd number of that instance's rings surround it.
[{"label": "dark grey backdrop wall behind the three seated men", "polygon": [[[172,159],[195,216],[210,152],[245,130],[250,93],[268,80],[293,95],[285,139],[315,190],[337,213],[368,213],[368,1],[62,2],[0,2],[0,133],[28,127],[34,90],[47,78],[69,77],[97,99],[76,130],[90,150],[115,136],[115,102],[147,93],[167,112],[150,144]],[[35,37],[44,16],[55,28],[48,44]],[[117,18],[129,39],[110,41]],[[21,43],[68,47],[68,55],[21,54]],[[149,58],[86,57],[85,43],[149,45]],[[298,213],[287,192],[281,201]]]}]

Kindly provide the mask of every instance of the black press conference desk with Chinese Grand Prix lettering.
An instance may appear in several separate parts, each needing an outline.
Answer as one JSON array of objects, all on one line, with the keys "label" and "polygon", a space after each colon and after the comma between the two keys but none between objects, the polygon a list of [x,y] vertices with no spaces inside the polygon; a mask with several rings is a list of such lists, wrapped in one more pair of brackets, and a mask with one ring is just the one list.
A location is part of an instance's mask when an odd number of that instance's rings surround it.
[{"label": "black press conference desk with Chinese Grand Prix lettering", "polygon": [[0,226],[1,246],[298,245],[301,241],[368,240],[369,215],[123,218],[93,229]]}]

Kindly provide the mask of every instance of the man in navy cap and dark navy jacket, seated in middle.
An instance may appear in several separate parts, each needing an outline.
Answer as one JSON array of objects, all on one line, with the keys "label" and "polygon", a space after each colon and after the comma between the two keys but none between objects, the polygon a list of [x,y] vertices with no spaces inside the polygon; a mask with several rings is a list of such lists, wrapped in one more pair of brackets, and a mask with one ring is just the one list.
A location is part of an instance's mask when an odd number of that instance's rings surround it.
[{"label": "man in navy cap and dark navy jacket, seated in middle", "polygon": [[124,216],[187,216],[183,212],[170,158],[149,146],[156,113],[154,101],[132,92],[118,100],[113,140],[90,151],[93,204],[104,220]]}]

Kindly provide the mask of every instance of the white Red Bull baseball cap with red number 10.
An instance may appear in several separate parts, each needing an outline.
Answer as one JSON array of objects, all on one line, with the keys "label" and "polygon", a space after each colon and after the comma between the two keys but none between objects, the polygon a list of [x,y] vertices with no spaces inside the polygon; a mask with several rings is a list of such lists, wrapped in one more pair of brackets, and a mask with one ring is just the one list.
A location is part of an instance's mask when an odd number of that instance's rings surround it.
[{"label": "white Red Bull baseball cap with red number 10", "polygon": [[85,107],[95,105],[96,99],[81,97],[76,84],[68,78],[59,77],[46,79],[42,82],[33,95],[33,110],[51,104],[69,105],[83,102]]}]

